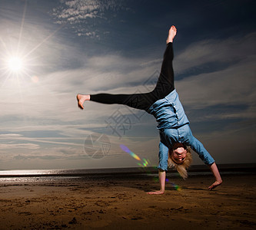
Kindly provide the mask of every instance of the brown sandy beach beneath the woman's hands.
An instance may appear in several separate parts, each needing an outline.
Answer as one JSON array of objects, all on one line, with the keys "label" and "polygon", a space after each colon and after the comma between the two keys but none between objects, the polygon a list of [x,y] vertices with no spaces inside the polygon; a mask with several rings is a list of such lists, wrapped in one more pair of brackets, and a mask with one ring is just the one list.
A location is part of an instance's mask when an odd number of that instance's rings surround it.
[{"label": "brown sandy beach beneath the woman's hands", "polygon": [[[211,176],[167,183],[105,176],[43,182],[0,180],[0,229],[255,229],[256,175]],[[175,189],[175,183],[180,189]]]}]

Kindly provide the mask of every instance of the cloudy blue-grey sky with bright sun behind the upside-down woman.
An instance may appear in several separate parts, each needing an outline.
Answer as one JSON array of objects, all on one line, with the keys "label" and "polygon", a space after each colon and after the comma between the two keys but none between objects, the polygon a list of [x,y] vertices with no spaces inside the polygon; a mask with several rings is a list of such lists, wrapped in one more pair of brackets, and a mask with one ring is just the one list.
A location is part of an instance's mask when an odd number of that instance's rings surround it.
[{"label": "cloudy blue-grey sky with bright sun behind the upside-down woman", "polygon": [[255,163],[254,8],[252,0],[0,0],[0,169],[157,166],[154,117],[94,102],[80,110],[76,95],[152,90],[171,25],[175,87],[194,136],[217,164]]}]

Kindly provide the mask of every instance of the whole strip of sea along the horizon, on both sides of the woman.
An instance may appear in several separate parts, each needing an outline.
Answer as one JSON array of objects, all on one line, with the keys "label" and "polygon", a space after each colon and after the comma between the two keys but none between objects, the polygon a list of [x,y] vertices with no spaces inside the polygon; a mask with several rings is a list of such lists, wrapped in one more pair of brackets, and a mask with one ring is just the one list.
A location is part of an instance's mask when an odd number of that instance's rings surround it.
[{"label": "whole strip of sea along the horizon, on both sides of the woman", "polygon": [[[256,163],[218,165],[221,175],[256,173]],[[211,175],[208,166],[191,166],[189,176]],[[178,177],[178,172],[168,170],[167,177]],[[77,180],[148,179],[158,178],[156,167],[111,168],[111,169],[32,169],[0,170],[0,184],[15,182],[75,182]]]}]

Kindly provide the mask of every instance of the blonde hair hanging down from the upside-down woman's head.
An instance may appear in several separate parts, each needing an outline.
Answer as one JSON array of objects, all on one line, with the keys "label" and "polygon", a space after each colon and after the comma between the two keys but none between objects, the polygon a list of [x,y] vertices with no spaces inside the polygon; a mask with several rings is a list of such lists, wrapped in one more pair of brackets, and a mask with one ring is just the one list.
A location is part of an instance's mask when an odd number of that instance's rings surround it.
[{"label": "blonde hair hanging down from the upside-down woman's head", "polygon": [[173,159],[171,159],[172,149],[169,149],[169,156],[168,156],[168,167],[169,168],[175,168],[178,173],[181,175],[183,179],[186,179],[188,177],[187,169],[192,163],[192,154],[191,149],[187,147],[187,155],[183,163],[178,164],[175,163]]}]

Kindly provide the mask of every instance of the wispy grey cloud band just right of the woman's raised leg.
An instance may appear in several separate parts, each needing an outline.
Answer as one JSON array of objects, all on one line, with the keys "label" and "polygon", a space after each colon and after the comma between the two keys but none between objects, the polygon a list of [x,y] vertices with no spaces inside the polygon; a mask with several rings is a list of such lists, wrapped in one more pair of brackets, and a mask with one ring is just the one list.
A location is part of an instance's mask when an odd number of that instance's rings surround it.
[{"label": "wispy grey cloud band just right of the woman's raised leg", "polygon": [[[194,75],[196,68],[200,71],[204,65],[207,67],[212,63],[215,63],[214,71],[218,66],[227,68],[229,64],[243,63],[254,56],[255,46],[256,33],[194,42],[175,57],[175,72]],[[197,71],[195,73],[198,74]]]}]

